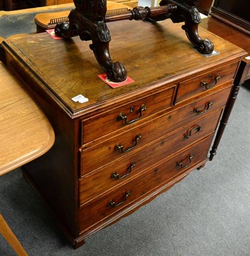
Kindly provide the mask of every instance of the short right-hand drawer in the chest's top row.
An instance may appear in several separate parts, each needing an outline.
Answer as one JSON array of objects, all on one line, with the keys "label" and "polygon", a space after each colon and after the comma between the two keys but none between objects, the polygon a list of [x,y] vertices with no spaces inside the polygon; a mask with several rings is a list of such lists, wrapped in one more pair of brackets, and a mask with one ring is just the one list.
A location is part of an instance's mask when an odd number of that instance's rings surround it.
[{"label": "short right-hand drawer in the chest's top row", "polygon": [[209,70],[200,76],[179,83],[175,103],[189,99],[198,93],[205,92],[219,84],[232,80],[235,76],[237,65],[238,62],[235,62],[215,70]]}]

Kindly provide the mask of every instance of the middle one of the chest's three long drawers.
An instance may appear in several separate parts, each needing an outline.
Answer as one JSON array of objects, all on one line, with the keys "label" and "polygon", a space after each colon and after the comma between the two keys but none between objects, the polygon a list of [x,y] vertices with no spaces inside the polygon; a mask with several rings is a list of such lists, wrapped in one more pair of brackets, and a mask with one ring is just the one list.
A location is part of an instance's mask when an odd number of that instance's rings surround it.
[{"label": "middle one of the chest's three long drawers", "polygon": [[119,186],[122,182],[138,175],[138,173],[177,152],[177,150],[214,132],[221,112],[222,109],[219,109],[210,113],[210,115],[204,116],[151,143],[151,145],[142,148],[135,154],[125,156],[121,161],[114,161],[90,175],[85,175],[80,179],[80,205],[108,189]]}]

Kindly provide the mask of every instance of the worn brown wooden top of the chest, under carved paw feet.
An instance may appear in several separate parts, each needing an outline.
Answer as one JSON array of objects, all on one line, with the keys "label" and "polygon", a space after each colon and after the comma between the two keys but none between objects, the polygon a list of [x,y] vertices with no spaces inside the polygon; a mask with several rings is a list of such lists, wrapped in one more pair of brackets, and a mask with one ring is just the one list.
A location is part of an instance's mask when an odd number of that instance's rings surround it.
[{"label": "worn brown wooden top of the chest, under carved paw feet", "polygon": [[[194,74],[198,76],[209,72],[210,68],[219,68],[237,56],[240,58],[244,52],[222,38],[199,29],[200,36],[210,38],[219,52],[216,56],[205,58],[194,51],[181,24],[173,24],[171,20],[158,24],[142,21],[111,22],[108,28],[112,36],[112,59],[120,61],[128,70],[128,76],[135,80],[134,83],[115,89],[99,79],[98,75],[103,74],[103,70],[89,49],[91,41],[81,41],[78,36],[54,40],[47,33],[41,33],[15,36],[3,42],[3,45],[28,70],[29,76],[35,77],[38,87],[46,91],[48,97],[54,97],[55,102],[70,116],[87,113],[93,107],[101,108],[105,104],[119,102],[140,89],[143,93],[166,83],[173,86],[181,79],[187,80]],[[18,67],[14,68],[19,76],[25,73]],[[79,94],[89,101],[74,102],[72,98]]]}]

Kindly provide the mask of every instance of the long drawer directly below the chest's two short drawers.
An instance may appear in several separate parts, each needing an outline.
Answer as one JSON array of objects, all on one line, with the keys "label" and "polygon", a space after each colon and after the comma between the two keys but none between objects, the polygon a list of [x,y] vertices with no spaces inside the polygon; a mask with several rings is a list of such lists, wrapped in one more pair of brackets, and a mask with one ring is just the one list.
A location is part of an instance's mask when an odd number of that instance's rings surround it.
[{"label": "long drawer directly below the chest's two short drawers", "polygon": [[[212,93],[207,97],[166,113],[159,118],[150,120],[110,140],[103,141],[103,143],[99,143],[94,147],[82,148],[80,150],[81,175],[92,172],[121,157],[125,157],[127,154],[132,154],[147,145],[147,143],[165,136],[168,132],[172,132],[182,125],[186,125],[217,108],[223,107],[226,104],[230,91],[231,87],[217,93]],[[124,150],[133,149],[122,153],[119,146],[123,146]]]}]

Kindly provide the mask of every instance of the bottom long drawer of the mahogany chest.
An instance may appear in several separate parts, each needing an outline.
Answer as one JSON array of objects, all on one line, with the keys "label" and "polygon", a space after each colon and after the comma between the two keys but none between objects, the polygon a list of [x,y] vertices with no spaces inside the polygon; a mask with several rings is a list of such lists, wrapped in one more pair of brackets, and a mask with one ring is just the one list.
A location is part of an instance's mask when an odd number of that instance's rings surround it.
[{"label": "bottom long drawer of the mahogany chest", "polygon": [[83,205],[80,208],[80,232],[86,232],[94,225],[100,225],[163,184],[177,179],[178,175],[183,175],[195,164],[207,161],[207,152],[211,142],[212,136],[187,148],[168,161],[152,167],[147,173],[143,173],[124,186]]}]

